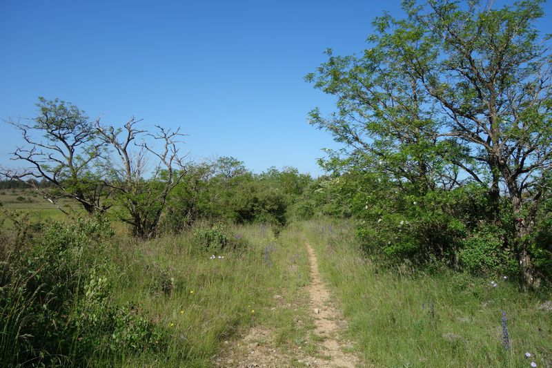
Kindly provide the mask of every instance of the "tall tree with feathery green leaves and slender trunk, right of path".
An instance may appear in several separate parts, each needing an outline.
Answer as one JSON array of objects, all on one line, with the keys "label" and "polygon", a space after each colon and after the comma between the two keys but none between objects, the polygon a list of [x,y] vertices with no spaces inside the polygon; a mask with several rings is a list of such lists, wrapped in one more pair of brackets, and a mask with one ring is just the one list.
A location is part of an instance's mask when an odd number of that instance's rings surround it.
[{"label": "tall tree with feathery green leaves and slender trunk, right of path", "polygon": [[488,186],[495,216],[506,198],[526,286],[535,284],[530,235],[552,169],[552,58],[534,26],[540,3],[404,1],[405,19],[375,19],[362,56],[328,52],[307,76],[339,108],[328,119],[313,110],[311,122],[368,165],[377,160],[422,191],[468,179]]}]

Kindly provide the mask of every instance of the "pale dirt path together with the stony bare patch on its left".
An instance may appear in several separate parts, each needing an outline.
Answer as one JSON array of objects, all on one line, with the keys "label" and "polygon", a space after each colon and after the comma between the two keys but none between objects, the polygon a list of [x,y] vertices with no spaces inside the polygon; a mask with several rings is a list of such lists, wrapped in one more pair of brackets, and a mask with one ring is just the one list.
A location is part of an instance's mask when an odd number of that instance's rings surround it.
[{"label": "pale dirt path together with the stony bare patch on its left", "polygon": [[[308,262],[311,268],[311,282],[306,285],[308,299],[299,304],[290,304],[275,296],[276,306],[272,309],[295,310],[307,307],[313,318],[314,329],[311,343],[315,351],[305,346],[278,347],[275,333],[264,326],[255,326],[245,336],[232,342],[225,342],[226,348],[215,358],[216,367],[238,368],[354,368],[362,367],[357,357],[344,351],[344,343],[339,338],[339,331],[345,327],[341,313],[333,306],[330,293],[322,281],[318,270],[318,261],[313,248],[307,243]],[[302,324],[302,320],[296,321]]]}]

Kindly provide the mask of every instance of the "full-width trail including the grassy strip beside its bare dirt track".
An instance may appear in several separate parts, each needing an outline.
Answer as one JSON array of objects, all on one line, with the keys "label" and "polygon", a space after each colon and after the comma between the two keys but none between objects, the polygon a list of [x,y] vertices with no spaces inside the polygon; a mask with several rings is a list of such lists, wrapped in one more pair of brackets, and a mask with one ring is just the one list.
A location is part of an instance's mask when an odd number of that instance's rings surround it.
[{"label": "full-width trail including the grassy strip beside its bare dirt track", "polygon": [[[215,358],[216,367],[357,367],[340,338],[345,323],[318,270],[317,256],[301,229],[279,238],[277,269],[288,275],[273,302],[259,311],[255,325],[230,341]],[[282,257],[284,255],[284,257]],[[286,257],[287,255],[287,257]],[[297,262],[297,260],[301,260]],[[299,280],[308,275],[308,280]],[[297,287],[300,285],[300,287]]]}]

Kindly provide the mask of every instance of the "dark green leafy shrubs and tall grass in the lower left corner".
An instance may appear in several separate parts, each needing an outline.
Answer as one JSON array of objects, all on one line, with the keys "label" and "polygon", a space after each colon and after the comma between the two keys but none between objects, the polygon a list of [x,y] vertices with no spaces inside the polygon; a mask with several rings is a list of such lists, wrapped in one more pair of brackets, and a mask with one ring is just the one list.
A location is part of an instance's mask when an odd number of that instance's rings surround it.
[{"label": "dark green leafy shrubs and tall grass in the lower left corner", "polygon": [[108,222],[52,222],[30,233],[21,232],[19,244],[1,254],[3,366],[79,367],[110,351],[160,346],[152,322],[112,302]]}]

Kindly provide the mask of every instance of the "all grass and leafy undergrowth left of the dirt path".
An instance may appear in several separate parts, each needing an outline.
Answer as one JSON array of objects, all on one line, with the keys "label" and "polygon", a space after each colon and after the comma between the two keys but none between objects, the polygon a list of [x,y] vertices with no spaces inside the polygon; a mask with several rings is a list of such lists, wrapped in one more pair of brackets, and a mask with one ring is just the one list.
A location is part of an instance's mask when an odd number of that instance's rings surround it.
[{"label": "all grass and leafy undergrowth left of the dirt path", "polygon": [[198,241],[208,224],[148,241],[90,226],[47,225],[0,249],[0,366],[208,367],[257,324],[282,345],[305,340],[293,321],[306,311],[273,305],[299,298],[306,255],[270,226],[222,226],[222,249]]}]

